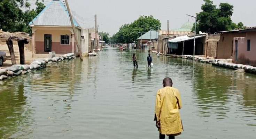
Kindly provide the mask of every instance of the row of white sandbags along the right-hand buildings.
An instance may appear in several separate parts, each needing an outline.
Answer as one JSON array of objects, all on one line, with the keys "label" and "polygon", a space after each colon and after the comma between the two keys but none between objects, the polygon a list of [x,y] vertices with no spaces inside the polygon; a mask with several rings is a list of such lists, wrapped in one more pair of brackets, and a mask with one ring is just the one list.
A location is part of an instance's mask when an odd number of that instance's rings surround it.
[{"label": "row of white sandbags along the right-hand buildings", "polygon": [[[194,59],[194,57],[191,55],[183,55],[181,56],[181,58],[192,59],[192,60]],[[243,65],[243,64],[230,63],[232,62],[232,59],[205,59],[204,57],[195,56],[195,61],[198,61],[201,63],[210,63],[213,66],[230,68],[232,70],[243,69],[245,72],[256,74],[256,67]]]}]

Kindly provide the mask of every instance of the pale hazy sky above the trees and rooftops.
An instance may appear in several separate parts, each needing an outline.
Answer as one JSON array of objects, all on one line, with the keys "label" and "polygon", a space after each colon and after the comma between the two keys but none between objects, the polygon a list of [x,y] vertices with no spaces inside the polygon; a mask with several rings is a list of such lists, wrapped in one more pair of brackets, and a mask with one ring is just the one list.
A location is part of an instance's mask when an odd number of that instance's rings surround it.
[{"label": "pale hazy sky above the trees and rooftops", "polygon": [[[33,1],[33,0],[32,0]],[[52,0],[44,0],[48,4]],[[64,0],[61,0],[64,1]],[[230,3],[234,6],[234,23],[242,22],[245,26],[256,26],[256,0],[213,0],[214,5]],[[180,28],[188,20],[186,16],[196,15],[201,10],[203,0],[68,0],[69,7],[75,11],[76,19],[82,27],[94,27],[94,15],[97,15],[99,31],[109,32],[110,35],[118,32],[123,24],[132,23],[141,15],[152,15],[159,19],[161,30]]]}]

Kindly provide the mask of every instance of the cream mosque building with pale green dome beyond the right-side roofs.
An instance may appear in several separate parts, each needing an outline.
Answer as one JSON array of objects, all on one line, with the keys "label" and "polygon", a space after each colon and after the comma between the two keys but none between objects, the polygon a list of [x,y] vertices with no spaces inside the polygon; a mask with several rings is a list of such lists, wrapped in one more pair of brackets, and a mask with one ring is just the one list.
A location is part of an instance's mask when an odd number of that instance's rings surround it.
[{"label": "cream mosque building with pale green dome beyond the right-side roofs", "polygon": [[[188,22],[184,23],[180,28],[170,30],[169,35],[188,34],[188,33],[191,32],[192,27],[193,27],[193,24],[188,21]],[[161,31],[159,31],[159,34],[160,35],[168,35],[168,31],[167,30],[161,30]]]}]

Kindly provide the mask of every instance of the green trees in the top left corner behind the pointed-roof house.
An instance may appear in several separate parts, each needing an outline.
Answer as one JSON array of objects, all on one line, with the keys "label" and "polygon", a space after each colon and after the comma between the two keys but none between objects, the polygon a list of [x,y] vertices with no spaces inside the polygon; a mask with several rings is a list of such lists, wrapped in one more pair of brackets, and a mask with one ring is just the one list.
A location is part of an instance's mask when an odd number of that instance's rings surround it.
[{"label": "green trees in the top left corner behind the pointed-roof house", "polygon": [[31,28],[28,24],[36,17],[42,9],[45,8],[44,0],[36,1],[36,10],[26,10],[23,12],[22,7],[30,9],[29,0],[1,0],[0,1],[0,29],[9,32],[24,31],[31,33]]}]

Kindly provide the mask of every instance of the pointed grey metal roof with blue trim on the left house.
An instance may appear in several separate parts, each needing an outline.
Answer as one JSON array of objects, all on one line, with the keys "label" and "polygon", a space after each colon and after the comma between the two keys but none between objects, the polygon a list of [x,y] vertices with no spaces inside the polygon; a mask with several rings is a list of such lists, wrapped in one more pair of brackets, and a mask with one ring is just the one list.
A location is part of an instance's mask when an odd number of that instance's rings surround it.
[{"label": "pointed grey metal roof with blue trim on the left house", "polygon": [[[75,26],[81,27],[74,17],[73,22]],[[52,1],[48,6],[33,19],[29,25],[35,26],[71,26],[67,8],[58,0]]]}]

